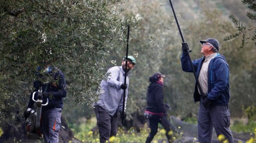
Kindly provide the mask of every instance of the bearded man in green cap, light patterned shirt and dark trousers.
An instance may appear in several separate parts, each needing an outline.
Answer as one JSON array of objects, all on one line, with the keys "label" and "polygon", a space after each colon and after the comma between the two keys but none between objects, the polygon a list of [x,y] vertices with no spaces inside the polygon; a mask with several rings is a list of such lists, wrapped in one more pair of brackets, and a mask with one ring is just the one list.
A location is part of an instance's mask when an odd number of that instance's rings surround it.
[{"label": "bearded man in green cap, light patterned shirt and dark trousers", "polygon": [[[127,77],[124,85],[125,60],[121,66],[113,66],[107,71],[107,79],[103,79],[100,84],[100,99],[92,106],[96,114],[97,125],[100,134],[100,143],[109,141],[111,136],[117,133],[117,118],[123,108],[123,91],[126,90],[124,111],[126,111],[126,101],[129,86],[128,72],[133,69],[136,60],[133,56],[127,57]],[[122,115],[120,113],[120,115]]]}]

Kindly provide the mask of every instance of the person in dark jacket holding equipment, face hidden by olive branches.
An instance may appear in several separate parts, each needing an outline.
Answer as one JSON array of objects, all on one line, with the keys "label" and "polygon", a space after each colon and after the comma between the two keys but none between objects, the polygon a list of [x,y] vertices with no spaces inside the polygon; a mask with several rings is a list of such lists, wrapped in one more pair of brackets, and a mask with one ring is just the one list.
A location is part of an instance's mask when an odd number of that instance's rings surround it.
[{"label": "person in dark jacket holding equipment, face hidden by olive branches", "polygon": [[[43,70],[40,67],[37,70]],[[34,91],[39,90],[39,86],[42,86],[43,104],[48,99],[48,105],[42,106],[41,126],[40,129],[44,136],[44,143],[58,143],[59,131],[61,127],[61,112],[63,108],[63,98],[66,97],[66,81],[65,76],[59,69],[47,65],[44,69],[44,73],[50,74],[53,78],[52,82],[47,84],[41,84],[40,81],[34,81]],[[28,102],[27,110],[24,112],[24,117],[29,117],[29,108],[33,108],[34,101],[32,100],[32,94]],[[37,100],[38,93],[35,94]]]}]

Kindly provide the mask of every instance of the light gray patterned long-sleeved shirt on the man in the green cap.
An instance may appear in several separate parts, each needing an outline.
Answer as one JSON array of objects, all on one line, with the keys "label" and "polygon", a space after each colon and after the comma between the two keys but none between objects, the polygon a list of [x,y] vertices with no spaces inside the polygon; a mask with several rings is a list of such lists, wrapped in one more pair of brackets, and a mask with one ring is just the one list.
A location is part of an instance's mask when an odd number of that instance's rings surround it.
[{"label": "light gray patterned long-sleeved shirt on the man in the green cap", "polygon": [[[107,77],[107,80],[101,80],[100,83],[100,99],[98,102],[93,103],[92,106],[99,105],[103,109],[105,109],[106,112],[108,112],[109,115],[114,115],[116,113],[116,110],[122,111],[123,109],[123,89],[120,88],[121,84],[124,84],[124,70],[122,66],[113,66],[112,68],[108,69],[107,74],[109,76]],[[124,110],[126,110],[126,101],[127,101],[127,95],[128,95],[128,86],[129,86],[129,77],[127,73],[126,77],[126,84],[127,88],[125,91],[125,106]]]}]

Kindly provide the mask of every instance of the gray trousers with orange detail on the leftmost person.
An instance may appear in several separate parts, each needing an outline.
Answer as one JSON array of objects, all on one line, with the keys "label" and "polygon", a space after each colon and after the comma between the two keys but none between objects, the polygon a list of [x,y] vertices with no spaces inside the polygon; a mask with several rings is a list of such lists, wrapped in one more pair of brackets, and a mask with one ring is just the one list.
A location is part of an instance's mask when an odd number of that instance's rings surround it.
[{"label": "gray trousers with orange detail on the leftmost person", "polygon": [[44,143],[58,143],[59,131],[61,127],[61,108],[54,108],[42,112],[42,133]]}]

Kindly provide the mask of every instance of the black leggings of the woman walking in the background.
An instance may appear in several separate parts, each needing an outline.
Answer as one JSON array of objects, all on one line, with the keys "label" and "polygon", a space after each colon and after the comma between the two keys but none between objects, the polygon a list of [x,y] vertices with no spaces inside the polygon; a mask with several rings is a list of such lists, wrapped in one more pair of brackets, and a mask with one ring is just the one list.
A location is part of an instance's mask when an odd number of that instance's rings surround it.
[{"label": "black leggings of the woman walking in the background", "polygon": [[172,135],[168,135],[168,133],[171,130],[174,133],[176,128],[169,122],[166,115],[162,115],[162,118],[160,115],[153,115],[153,117],[149,118],[150,133],[147,137],[146,143],[150,143],[156,135],[158,129],[158,122],[164,127],[166,131],[165,135],[168,141],[172,142]]}]

